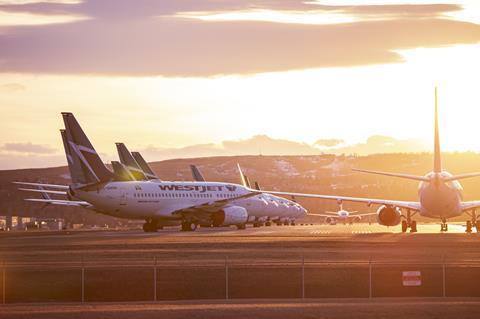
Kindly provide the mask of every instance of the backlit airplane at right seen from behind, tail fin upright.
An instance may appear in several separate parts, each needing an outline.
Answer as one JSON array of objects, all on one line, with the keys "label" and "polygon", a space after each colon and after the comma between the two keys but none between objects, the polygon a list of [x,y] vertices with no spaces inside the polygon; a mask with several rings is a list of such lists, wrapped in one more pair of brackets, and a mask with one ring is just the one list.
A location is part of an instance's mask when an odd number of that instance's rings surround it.
[{"label": "backlit airplane at right seen from behind, tail fin upright", "polygon": [[[480,176],[480,173],[467,173],[461,175],[452,175],[442,169],[442,159],[440,152],[440,136],[438,127],[438,107],[437,107],[437,89],[435,88],[435,129],[434,129],[434,160],[433,171],[425,176],[414,176],[409,174],[387,173],[378,171],[368,171],[357,169],[358,172],[378,174],[384,176],[393,176],[404,179],[419,181],[417,202],[375,199],[375,198],[355,198],[334,195],[316,195],[291,192],[268,192],[269,194],[283,196],[298,196],[308,198],[320,198],[335,200],[339,203],[344,201],[360,202],[370,205],[381,205],[377,210],[378,223],[384,226],[395,226],[402,224],[402,231],[406,232],[408,228],[412,232],[417,231],[417,223],[412,217],[419,214],[422,217],[438,218],[441,220],[441,231],[448,231],[447,220],[449,218],[461,216],[464,212],[469,214],[470,220],[466,223],[466,231],[472,232],[472,226],[475,226],[477,232],[480,232],[480,221],[476,214],[476,209],[480,207],[480,201],[463,201],[462,186],[458,182],[461,179]],[[406,215],[402,213],[406,211]],[[402,220],[403,219],[403,220]]]}]

